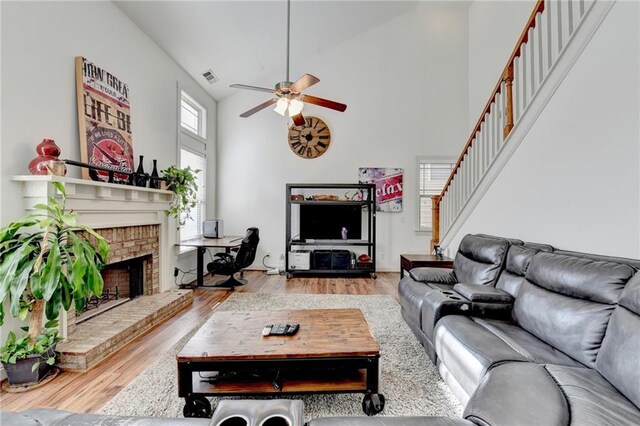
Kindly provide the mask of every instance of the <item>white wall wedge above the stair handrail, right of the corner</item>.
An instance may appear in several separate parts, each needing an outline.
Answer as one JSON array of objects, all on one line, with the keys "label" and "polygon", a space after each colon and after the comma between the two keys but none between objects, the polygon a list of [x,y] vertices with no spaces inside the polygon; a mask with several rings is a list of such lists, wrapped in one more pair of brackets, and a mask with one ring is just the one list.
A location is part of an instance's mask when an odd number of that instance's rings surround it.
[{"label": "white wall wedge above the stair handrail, right of the corner", "polygon": [[535,0],[475,0],[471,3],[469,133],[489,100],[535,3]]}]

